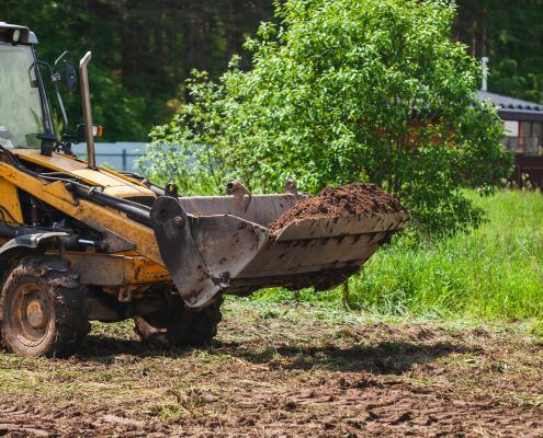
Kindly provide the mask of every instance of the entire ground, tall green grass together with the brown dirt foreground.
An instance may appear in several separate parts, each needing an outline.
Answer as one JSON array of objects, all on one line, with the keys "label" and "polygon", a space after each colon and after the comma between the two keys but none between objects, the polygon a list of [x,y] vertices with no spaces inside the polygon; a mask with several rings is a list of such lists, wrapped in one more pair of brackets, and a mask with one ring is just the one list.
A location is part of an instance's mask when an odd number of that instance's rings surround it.
[{"label": "entire ground, tall green grass together with the brown dirt foreground", "polygon": [[229,297],[206,347],[159,349],[126,321],[69,359],[0,350],[0,436],[541,437],[543,197],[477,203],[480,229],[397,239],[348,299]]}]

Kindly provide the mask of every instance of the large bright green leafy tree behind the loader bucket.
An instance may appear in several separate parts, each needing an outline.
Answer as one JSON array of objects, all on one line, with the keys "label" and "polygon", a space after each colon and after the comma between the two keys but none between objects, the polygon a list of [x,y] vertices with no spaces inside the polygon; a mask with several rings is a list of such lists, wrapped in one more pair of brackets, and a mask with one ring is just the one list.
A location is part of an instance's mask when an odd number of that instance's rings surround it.
[{"label": "large bright green leafy tree behind the loader bucket", "polygon": [[510,161],[495,110],[474,99],[479,66],[451,39],[454,5],[290,0],[275,15],[246,43],[250,71],[235,58],[217,83],[189,82],[192,103],[152,131],[142,170],[189,193],[231,178],[265,192],[287,177],[309,192],[370,181],[425,231],[478,223],[462,187],[491,191]]}]

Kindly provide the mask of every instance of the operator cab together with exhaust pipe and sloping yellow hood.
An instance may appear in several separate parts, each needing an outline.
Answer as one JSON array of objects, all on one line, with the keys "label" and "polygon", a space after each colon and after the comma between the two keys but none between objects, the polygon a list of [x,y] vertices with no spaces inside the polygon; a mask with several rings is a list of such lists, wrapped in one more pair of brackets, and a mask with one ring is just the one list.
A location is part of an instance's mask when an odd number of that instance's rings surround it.
[{"label": "operator cab together with exhaust pipe and sloping yellow hood", "polygon": [[[10,157],[9,161],[36,174],[54,173],[114,197],[152,204],[156,194],[148,188],[150,184],[142,183],[143,177],[115,174],[95,164],[94,137],[101,137],[102,129],[92,124],[87,71],[91,53],[79,64],[84,124],[68,134],[58,82],[65,82],[68,93],[78,88],[73,58],[65,51],[49,65],[37,58],[35,44],[37,38],[29,27],[0,22],[0,161]],[[56,96],[55,117],[47,91]],[[58,136],[54,124],[57,117],[63,120]],[[86,161],[71,151],[71,145],[79,141],[87,143]],[[50,175],[44,177],[52,181]]]}]

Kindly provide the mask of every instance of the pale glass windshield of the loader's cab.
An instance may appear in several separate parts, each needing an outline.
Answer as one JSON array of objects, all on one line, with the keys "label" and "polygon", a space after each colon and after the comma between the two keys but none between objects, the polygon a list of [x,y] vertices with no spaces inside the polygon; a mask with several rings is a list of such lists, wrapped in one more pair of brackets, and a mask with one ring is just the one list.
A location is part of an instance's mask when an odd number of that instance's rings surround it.
[{"label": "pale glass windshield of the loader's cab", "polygon": [[44,115],[32,48],[0,43],[0,145],[39,148],[41,132]]}]

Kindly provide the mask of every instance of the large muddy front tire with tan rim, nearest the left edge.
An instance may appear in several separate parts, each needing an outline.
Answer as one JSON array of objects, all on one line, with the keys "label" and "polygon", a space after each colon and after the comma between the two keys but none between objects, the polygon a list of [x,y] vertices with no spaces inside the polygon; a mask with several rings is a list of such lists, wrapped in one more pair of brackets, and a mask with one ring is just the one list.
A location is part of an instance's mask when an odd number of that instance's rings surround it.
[{"label": "large muddy front tire with tan rim, nearest the left edge", "polygon": [[90,331],[84,307],[88,290],[78,277],[60,258],[22,258],[1,290],[2,345],[30,357],[73,354]]}]

